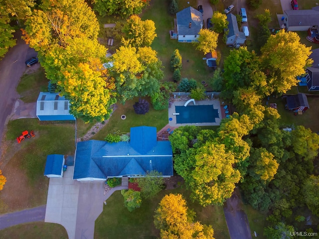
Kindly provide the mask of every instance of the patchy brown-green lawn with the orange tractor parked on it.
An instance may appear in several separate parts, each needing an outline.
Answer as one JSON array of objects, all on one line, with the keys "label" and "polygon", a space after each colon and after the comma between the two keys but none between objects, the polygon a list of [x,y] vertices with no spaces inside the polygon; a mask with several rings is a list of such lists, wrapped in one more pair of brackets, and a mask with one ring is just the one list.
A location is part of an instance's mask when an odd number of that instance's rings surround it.
[{"label": "patchy brown-green lawn with the orange tractor parked on it", "polygon": [[[24,130],[34,130],[35,137],[18,144],[15,138]],[[46,156],[73,155],[74,130],[73,123],[43,123],[38,119],[8,122],[1,165],[7,182],[0,193],[0,213],[46,204],[49,182],[43,176]]]}]

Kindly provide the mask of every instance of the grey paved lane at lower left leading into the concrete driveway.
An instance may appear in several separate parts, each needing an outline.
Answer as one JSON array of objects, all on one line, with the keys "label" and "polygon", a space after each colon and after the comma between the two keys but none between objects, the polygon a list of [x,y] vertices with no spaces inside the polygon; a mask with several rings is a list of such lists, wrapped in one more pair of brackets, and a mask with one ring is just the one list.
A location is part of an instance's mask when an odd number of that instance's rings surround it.
[{"label": "grey paved lane at lower left leading into the concrete driveway", "polygon": [[21,223],[44,222],[46,205],[0,215],[0,230]]}]

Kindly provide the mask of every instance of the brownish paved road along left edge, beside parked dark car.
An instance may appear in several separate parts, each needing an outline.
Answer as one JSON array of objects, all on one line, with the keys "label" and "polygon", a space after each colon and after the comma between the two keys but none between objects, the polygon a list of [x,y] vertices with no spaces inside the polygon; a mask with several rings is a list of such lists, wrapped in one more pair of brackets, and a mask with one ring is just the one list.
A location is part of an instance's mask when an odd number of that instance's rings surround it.
[{"label": "brownish paved road along left edge, beside parked dark car", "polygon": [[[21,39],[21,32],[15,34],[17,44],[11,48],[0,61],[0,141],[7,117],[10,115],[18,94],[15,91],[18,82],[26,70],[25,60],[35,55],[35,51],[28,47]],[[0,147],[0,155],[2,155]]]}]

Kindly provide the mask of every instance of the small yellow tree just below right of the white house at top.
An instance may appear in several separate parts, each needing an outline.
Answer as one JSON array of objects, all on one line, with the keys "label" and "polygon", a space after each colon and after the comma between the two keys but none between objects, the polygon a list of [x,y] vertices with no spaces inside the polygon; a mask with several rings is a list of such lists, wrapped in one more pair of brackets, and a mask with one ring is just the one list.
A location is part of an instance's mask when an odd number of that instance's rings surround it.
[{"label": "small yellow tree just below right of the white house at top", "polygon": [[218,33],[202,28],[198,34],[198,43],[194,43],[197,44],[196,50],[202,51],[206,55],[217,48]]}]

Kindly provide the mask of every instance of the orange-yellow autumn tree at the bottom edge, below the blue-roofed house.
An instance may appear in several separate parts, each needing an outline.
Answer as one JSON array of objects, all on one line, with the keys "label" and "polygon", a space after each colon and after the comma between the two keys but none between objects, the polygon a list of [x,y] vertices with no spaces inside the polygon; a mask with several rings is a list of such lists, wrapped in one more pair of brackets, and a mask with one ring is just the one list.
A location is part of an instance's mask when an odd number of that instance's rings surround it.
[{"label": "orange-yellow autumn tree at the bottom edge, below the blue-roofed house", "polygon": [[180,194],[165,195],[155,211],[154,224],[161,239],[214,239],[211,226],[194,222],[195,213],[186,206]]}]

